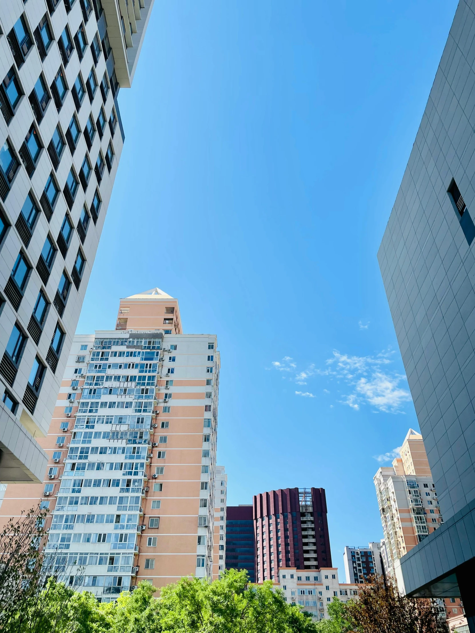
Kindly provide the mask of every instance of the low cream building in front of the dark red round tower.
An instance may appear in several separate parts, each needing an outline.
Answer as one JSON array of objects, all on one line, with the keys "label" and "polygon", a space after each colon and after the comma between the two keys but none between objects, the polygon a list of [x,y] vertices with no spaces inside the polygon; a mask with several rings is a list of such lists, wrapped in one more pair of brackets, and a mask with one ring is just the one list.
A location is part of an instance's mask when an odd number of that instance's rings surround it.
[{"label": "low cream building in front of the dark red round tower", "polygon": [[336,567],[281,567],[274,586],[282,589],[286,602],[302,606],[315,620],[328,617],[328,605],[334,598],[342,602],[358,599],[358,585],[339,582]]}]

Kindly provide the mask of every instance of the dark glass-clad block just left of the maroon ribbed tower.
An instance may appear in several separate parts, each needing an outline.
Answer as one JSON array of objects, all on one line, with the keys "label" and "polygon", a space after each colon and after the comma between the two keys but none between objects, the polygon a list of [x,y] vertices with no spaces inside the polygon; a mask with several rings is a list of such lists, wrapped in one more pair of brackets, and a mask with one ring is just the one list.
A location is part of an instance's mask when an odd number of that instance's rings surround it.
[{"label": "dark glass-clad block just left of the maroon ribbed tower", "polygon": [[252,506],[226,508],[226,569],[246,569],[256,582],[256,541]]}]

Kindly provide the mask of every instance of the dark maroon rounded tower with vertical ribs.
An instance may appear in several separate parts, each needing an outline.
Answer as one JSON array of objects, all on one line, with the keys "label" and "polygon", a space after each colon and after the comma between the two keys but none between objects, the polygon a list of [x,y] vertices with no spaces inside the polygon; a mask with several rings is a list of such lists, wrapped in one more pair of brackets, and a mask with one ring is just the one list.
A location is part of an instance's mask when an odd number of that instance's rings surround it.
[{"label": "dark maroon rounded tower with vertical ribs", "polygon": [[281,567],[331,567],[323,488],[286,488],[254,496],[257,582]]}]

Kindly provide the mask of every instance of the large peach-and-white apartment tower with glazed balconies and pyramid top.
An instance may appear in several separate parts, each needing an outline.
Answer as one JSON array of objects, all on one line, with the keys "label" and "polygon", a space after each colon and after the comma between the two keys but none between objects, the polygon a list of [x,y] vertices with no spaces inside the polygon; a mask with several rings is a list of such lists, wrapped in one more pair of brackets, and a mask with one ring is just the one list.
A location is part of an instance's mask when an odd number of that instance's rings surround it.
[{"label": "large peach-and-white apartment tower with glazed balconies and pyramid top", "polygon": [[215,335],[183,334],[177,299],[121,299],[116,330],[75,336],[39,440],[44,482],[9,485],[1,515],[42,499],[47,553],[103,601],[142,579],[211,579],[219,368]]}]

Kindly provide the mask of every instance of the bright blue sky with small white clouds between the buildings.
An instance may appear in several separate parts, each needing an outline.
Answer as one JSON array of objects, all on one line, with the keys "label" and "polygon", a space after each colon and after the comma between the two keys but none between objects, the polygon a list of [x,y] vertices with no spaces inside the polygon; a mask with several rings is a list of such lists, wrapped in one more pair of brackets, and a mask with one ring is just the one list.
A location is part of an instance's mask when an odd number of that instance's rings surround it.
[{"label": "bright blue sky with small white clouds between the buildings", "polygon": [[229,505],[324,487],[341,573],[383,536],[372,477],[418,428],[376,253],[456,5],[156,0],[120,91],[78,332],[177,297],[185,332],[218,335]]}]

